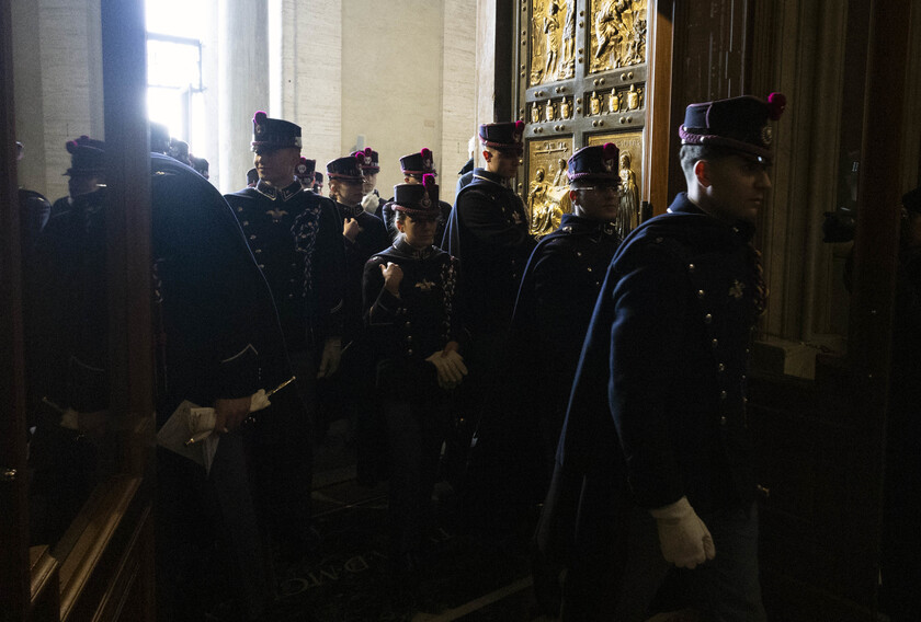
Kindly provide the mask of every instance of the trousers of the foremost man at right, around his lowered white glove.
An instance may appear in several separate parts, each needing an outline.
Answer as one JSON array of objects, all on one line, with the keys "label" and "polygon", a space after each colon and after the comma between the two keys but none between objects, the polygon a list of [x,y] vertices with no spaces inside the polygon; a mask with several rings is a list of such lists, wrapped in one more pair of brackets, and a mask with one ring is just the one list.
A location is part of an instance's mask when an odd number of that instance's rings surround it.
[{"label": "trousers of the foremost man at right, around his lowered white glove", "polygon": [[[566,574],[561,619],[643,622],[668,590],[666,609],[692,606],[708,622],[764,622],[758,568],[758,512],[754,505],[701,515],[713,535],[716,556],[693,571],[675,568],[662,557],[656,521],[648,510],[632,508],[624,517],[628,539],[617,556],[575,560]],[[624,527],[624,526],[622,526]],[[612,526],[617,529],[617,526]],[[585,551],[592,549],[585,543]],[[617,567],[612,583],[612,567]]]}]

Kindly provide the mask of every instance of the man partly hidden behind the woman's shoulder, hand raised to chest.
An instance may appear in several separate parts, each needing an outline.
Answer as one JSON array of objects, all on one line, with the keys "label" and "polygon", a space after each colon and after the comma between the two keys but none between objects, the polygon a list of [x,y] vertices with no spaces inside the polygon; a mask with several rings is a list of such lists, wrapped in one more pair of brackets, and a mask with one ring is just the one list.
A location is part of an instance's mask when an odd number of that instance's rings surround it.
[{"label": "man partly hidden behind the woman's shoulder, hand raised to chest", "polygon": [[[321,425],[346,418],[355,425],[357,476],[362,484],[379,477],[383,447],[377,421],[371,350],[364,339],[362,276],[364,265],[389,245],[384,222],[362,208],[364,157],[346,156],[327,163],[330,196],[344,221],[345,275],[342,332],[342,369],[320,387]],[[321,427],[323,429],[323,427]]]}]

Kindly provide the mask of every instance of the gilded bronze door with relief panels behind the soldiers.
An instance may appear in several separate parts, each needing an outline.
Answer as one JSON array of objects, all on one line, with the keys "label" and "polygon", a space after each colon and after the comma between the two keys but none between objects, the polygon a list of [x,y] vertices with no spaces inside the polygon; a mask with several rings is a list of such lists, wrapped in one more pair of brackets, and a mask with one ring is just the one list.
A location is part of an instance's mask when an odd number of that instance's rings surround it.
[{"label": "gilded bronze door with relief panels behind the soldiers", "polygon": [[518,113],[527,146],[518,192],[532,233],[549,233],[571,210],[566,160],[607,141],[626,154],[618,228],[629,232],[640,215],[648,1],[520,0],[519,8]]}]

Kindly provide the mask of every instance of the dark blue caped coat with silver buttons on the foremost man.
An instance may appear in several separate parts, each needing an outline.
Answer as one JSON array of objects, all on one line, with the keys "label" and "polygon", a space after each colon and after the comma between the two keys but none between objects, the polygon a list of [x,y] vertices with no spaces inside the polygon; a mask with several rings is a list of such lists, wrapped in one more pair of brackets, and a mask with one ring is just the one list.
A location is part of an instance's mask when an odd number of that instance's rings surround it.
[{"label": "dark blue caped coat with silver buttons on the foremost man", "polygon": [[682,193],[617,251],[542,517],[546,554],[573,544],[577,555],[610,554],[623,544],[616,525],[632,504],[656,508],[686,495],[701,514],[753,498],[744,395],[754,323],[750,237]]}]

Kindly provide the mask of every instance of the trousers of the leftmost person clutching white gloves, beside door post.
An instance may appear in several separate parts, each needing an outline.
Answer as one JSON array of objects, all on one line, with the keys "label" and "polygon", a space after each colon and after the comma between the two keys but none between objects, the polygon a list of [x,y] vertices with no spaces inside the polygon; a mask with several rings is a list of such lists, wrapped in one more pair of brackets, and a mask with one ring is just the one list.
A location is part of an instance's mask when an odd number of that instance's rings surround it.
[{"label": "trousers of the leftmost person clutching white gloves, beside door post", "polygon": [[240,619],[253,620],[270,601],[247,446],[240,431],[221,435],[207,475],[186,458],[157,449],[158,620],[202,620],[224,599],[235,601]]}]

